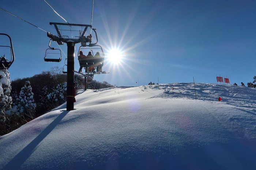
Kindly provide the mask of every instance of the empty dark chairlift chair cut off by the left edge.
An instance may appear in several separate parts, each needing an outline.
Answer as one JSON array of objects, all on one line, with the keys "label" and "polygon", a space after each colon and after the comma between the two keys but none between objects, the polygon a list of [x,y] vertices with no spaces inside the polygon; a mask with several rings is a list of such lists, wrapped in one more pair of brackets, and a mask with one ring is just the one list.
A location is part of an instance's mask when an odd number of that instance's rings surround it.
[{"label": "empty dark chairlift chair cut off by the left edge", "polygon": [[0,58],[0,70],[3,70],[3,69],[8,69],[11,67],[12,63],[14,62],[15,56],[14,56],[14,52],[13,52],[11,37],[5,33],[0,33],[0,35],[5,35],[10,39],[10,46],[0,46],[0,47],[8,47],[8,48],[10,48],[10,51],[11,51],[11,59],[10,60],[6,59],[5,56]]}]

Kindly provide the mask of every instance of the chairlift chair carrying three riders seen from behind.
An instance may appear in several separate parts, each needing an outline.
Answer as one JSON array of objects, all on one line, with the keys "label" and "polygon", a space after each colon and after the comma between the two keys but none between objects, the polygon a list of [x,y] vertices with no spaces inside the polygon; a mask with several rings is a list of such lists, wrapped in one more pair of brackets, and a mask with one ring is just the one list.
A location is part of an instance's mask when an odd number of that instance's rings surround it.
[{"label": "chairlift chair carrying three riders seen from behind", "polygon": [[92,55],[94,56],[97,52],[100,52],[101,58],[82,58],[79,59],[80,67],[97,67],[99,64],[102,68],[104,64],[104,52],[102,50],[102,47],[99,45],[91,45],[91,46],[80,46],[78,54],[80,54],[80,51],[83,52],[84,55],[87,55],[86,53],[91,51]]}]

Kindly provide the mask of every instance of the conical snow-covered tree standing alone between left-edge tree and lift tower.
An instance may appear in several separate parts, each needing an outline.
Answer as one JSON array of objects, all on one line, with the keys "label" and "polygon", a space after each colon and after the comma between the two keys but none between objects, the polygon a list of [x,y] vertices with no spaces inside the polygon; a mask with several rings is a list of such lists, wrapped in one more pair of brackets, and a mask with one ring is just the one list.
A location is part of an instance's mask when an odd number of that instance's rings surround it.
[{"label": "conical snow-covered tree standing alone between left-edge tree and lift tower", "polygon": [[34,118],[36,104],[33,95],[30,82],[26,81],[19,94],[18,114]]}]

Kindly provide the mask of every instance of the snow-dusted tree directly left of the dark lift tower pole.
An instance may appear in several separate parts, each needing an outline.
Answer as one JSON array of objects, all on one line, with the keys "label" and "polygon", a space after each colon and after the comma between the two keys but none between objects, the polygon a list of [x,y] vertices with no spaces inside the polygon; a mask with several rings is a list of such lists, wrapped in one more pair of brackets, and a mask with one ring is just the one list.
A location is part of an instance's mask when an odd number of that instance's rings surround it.
[{"label": "snow-dusted tree directly left of the dark lift tower pole", "polygon": [[51,102],[64,101],[64,94],[67,91],[67,82],[58,84],[53,91],[47,95],[48,100]]}]

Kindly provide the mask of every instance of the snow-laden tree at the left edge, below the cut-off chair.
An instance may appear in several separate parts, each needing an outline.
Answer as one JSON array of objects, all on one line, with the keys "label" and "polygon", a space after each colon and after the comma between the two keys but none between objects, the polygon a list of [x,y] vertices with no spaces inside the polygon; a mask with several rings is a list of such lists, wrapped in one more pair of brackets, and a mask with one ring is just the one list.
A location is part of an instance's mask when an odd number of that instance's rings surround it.
[{"label": "snow-laden tree at the left edge, below the cut-off chair", "polygon": [[12,98],[10,73],[7,69],[0,70],[0,122],[5,121],[5,112],[11,109]]}]

